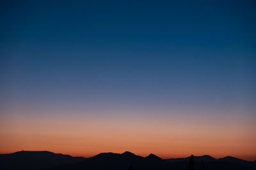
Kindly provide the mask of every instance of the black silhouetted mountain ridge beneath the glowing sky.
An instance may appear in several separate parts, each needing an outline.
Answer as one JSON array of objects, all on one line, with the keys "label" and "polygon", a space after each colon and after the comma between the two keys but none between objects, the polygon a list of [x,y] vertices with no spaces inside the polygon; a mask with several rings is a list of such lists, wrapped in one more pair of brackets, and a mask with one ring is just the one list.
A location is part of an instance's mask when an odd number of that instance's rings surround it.
[{"label": "black silhouetted mountain ridge beneath the glowing sky", "polygon": [[[52,152],[21,151],[0,154],[0,169],[188,169],[189,157],[180,159],[161,159],[150,154],[147,157],[134,155],[131,152],[100,153],[91,158],[71,157]],[[204,169],[256,169],[256,162],[224,157],[214,159],[209,155],[194,157],[195,170]]]}]

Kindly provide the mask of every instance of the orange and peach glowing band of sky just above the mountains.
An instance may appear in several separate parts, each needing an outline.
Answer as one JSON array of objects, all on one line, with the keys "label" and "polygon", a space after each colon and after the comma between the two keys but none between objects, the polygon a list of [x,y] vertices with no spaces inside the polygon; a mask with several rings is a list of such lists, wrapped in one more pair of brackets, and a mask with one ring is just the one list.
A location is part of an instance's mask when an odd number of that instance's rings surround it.
[{"label": "orange and peach glowing band of sky just above the mountains", "polygon": [[194,155],[256,159],[252,120],[152,116],[6,116],[1,121],[1,153],[47,150],[92,157],[102,152],[163,159]]}]

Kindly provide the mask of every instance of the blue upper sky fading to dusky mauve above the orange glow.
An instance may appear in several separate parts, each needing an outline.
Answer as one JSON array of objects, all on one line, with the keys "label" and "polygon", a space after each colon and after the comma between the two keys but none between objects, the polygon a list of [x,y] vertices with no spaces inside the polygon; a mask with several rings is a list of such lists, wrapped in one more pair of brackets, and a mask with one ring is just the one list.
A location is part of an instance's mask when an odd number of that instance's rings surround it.
[{"label": "blue upper sky fading to dusky mauve above the orange glow", "polygon": [[255,111],[254,1],[0,6],[6,110],[205,108],[218,115],[225,108],[241,117]]}]

